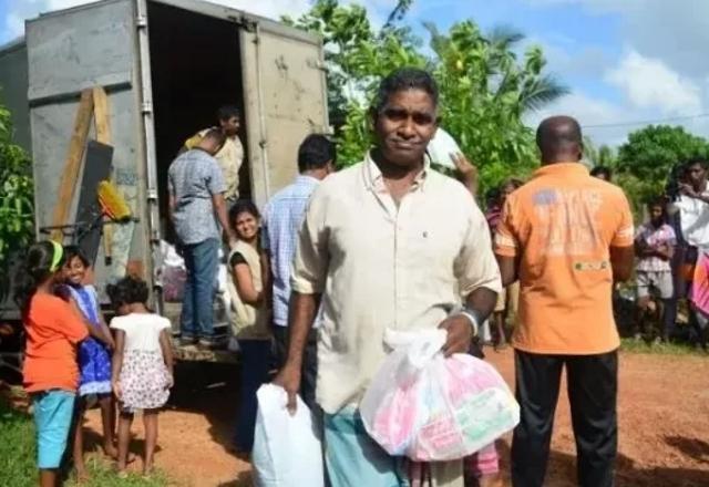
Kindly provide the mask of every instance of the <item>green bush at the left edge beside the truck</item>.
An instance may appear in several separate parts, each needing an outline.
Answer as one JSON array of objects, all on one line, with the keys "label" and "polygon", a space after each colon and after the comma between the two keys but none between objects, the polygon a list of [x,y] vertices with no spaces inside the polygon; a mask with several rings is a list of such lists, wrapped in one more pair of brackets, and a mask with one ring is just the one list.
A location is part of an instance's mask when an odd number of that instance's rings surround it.
[{"label": "green bush at the left edge beside the truck", "polygon": [[10,112],[0,105],[0,272],[10,252],[29,245],[34,229],[32,166],[11,136]]}]

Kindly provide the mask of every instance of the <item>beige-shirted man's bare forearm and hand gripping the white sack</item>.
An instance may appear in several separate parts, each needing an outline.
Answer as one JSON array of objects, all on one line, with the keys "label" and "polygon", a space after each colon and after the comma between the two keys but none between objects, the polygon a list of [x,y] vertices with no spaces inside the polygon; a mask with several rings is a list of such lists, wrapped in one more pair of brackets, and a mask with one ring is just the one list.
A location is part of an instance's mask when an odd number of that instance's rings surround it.
[{"label": "beige-shirted man's bare forearm and hand gripping the white sack", "polygon": [[300,374],[302,370],[302,354],[312,328],[316,313],[320,305],[321,294],[301,294],[292,291],[288,307],[289,346],[288,358],[284,369],[274,380],[288,393],[288,411],[296,412],[296,396],[300,391]]}]

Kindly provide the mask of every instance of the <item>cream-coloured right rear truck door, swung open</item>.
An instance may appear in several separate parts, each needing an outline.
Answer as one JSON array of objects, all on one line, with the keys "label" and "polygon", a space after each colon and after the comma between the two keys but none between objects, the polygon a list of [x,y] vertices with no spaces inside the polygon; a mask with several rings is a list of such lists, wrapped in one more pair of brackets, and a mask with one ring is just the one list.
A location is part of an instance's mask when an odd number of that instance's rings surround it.
[{"label": "cream-coloured right rear truck door, swung open", "polygon": [[292,28],[245,18],[242,59],[251,194],[263,205],[298,173],[298,146],[327,132],[322,44]]}]

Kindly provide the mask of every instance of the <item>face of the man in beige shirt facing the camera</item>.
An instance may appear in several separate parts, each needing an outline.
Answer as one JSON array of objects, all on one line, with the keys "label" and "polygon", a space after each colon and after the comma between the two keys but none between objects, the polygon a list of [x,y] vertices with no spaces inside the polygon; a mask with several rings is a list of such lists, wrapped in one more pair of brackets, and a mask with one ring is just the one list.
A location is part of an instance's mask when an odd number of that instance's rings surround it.
[{"label": "face of the man in beige shirt facing the camera", "polygon": [[382,156],[401,167],[411,167],[423,160],[436,127],[433,100],[419,89],[393,93],[374,121]]}]

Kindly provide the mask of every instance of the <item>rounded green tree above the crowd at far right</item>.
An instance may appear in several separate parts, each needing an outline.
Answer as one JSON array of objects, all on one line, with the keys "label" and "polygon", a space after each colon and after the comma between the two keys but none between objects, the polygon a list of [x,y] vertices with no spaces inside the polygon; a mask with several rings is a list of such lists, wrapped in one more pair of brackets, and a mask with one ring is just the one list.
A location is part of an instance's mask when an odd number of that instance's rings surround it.
[{"label": "rounded green tree above the crowd at far right", "polygon": [[697,156],[709,156],[707,139],[679,126],[649,125],[628,135],[628,142],[618,149],[617,183],[638,209],[665,194],[672,167]]}]

